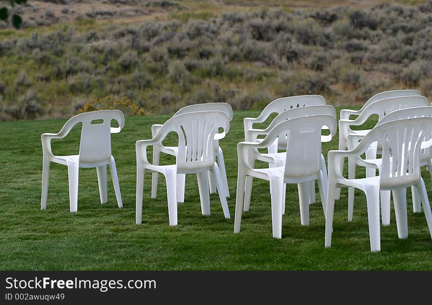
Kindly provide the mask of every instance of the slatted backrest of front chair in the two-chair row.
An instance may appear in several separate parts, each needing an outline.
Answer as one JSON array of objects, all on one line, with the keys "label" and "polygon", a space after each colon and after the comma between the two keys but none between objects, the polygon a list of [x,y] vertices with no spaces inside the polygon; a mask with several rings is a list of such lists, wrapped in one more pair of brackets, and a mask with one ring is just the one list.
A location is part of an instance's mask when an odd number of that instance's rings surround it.
[{"label": "slatted backrest of front chair in the two-chair row", "polygon": [[187,112],[173,116],[162,128],[164,133],[173,131],[179,137],[178,170],[196,172],[197,169],[213,166],[214,137],[219,128],[229,131],[229,118],[222,111]]}]

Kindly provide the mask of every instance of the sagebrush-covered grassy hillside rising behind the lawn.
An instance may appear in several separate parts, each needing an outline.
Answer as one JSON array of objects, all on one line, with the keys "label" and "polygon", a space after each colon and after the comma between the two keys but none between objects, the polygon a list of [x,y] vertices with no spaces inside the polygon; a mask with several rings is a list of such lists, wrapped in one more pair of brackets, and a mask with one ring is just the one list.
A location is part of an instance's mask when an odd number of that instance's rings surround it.
[{"label": "sagebrush-covered grassy hillside rising behind the lawn", "polygon": [[0,30],[0,119],[69,117],[108,94],[150,114],[202,102],[259,110],[309,93],[333,105],[395,88],[431,94],[432,2],[321,2],[127,1],[145,13],[69,12]]}]

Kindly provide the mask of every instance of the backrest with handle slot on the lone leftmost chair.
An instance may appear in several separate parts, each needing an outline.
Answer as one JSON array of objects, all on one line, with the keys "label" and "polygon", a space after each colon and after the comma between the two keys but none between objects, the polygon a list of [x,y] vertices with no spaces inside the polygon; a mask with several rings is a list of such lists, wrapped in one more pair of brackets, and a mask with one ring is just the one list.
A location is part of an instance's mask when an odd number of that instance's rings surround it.
[{"label": "backrest with handle slot on the lone leftmost chair", "polygon": [[[111,127],[116,120],[119,127]],[[63,128],[72,129],[82,123],[80,164],[98,163],[111,157],[111,133],[119,133],[125,126],[125,116],[119,110],[84,112],[70,118]]]}]

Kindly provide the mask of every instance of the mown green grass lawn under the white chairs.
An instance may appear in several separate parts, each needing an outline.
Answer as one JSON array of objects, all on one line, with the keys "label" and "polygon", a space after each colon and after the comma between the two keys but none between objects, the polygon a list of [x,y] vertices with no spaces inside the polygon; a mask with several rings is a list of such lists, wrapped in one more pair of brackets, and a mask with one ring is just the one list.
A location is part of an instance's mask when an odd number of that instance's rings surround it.
[{"label": "mown green grass lawn under the white chairs", "polygon": [[[243,212],[241,232],[234,234],[236,144],[243,140],[243,117],[257,115],[256,111],[235,112],[231,130],[220,142],[231,192],[228,198],[231,220],[224,219],[217,194],[211,195],[211,216],[201,215],[196,176],[188,175],[185,202],[179,204],[179,224],[175,227],[168,224],[163,176],[160,176],[158,197],[150,198],[151,174],[145,176],[143,223],[135,224],[135,141],[150,139],[151,124],[163,123],[168,116],[127,117],[122,132],[111,136],[124,208],[117,207],[110,181],[108,203],[100,204],[96,170],[83,168],[77,213],[69,213],[67,167],[53,163],[48,208],[40,210],[40,135],[58,132],[65,120],[0,123],[0,269],[432,269],[431,236],[424,214],[412,212],[410,192],[407,198],[409,237],[398,239],[392,208],[391,224],[381,226],[381,252],[378,253],[370,252],[366,198],[361,191],[355,193],[354,220],[347,222],[346,188],[335,203],[334,233],[329,249],[324,248],[325,222],[318,188],[317,203],[310,207],[310,225],[302,226],[297,185],[288,185],[282,239],[277,240],[271,237],[269,183],[255,179],[250,211]],[[54,154],[78,153],[79,135],[80,128],[76,128],[66,139],[53,141]],[[324,143],[324,155],[330,149],[337,149],[337,143],[337,137]],[[432,198],[432,184],[425,169],[423,176]]]}]

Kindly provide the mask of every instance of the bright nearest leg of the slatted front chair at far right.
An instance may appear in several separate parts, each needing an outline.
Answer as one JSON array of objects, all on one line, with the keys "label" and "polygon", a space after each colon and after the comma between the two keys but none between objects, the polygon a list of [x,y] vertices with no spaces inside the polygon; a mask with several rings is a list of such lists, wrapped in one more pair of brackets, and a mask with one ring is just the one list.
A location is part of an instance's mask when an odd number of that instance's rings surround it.
[{"label": "bright nearest leg of the slatted front chair at far right", "polygon": [[379,187],[366,189],[366,201],[368,206],[369,239],[371,251],[381,250],[380,224],[379,224]]}]

